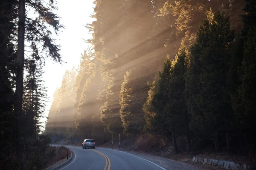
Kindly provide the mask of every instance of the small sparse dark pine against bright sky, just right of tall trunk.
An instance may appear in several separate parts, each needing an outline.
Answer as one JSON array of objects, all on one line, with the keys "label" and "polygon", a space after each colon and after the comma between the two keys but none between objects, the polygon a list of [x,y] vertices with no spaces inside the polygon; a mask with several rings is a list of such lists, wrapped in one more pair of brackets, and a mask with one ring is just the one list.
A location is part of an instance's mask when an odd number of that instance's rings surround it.
[{"label": "small sparse dark pine against bright sky, just right of tall trunk", "polygon": [[35,60],[26,60],[27,75],[24,81],[23,116],[24,125],[27,125],[26,135],[36,138],[41,131],[40,118],[43,117],[46,97],[46,88],[41,76],[44,73],[42,67]]}]

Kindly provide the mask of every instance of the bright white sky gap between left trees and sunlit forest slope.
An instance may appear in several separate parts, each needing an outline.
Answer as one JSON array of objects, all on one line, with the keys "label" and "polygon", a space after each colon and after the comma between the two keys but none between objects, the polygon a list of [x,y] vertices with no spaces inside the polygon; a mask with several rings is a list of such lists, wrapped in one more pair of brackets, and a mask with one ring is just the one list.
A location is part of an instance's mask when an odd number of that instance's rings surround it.
[{"label": "bright white sky gap between left trees and sunlit forest slope", "polygon": [[49,102],[45,116],[48,116],[53,93],[57,87],[61,86],[65,71],[79,65],[81,53],[88,46],[84,40],[90,39],[92,36],[84,26],[93,20],[90,18],[90,14],[93,13],[93,0],[73,0],[72,3],[67,0],[57,1],[58,11],[56,13],[61,17],[61,24],[66,27],[57,37],[57,43],[61,45],[62,60],[67,63],[61,65],[51,59],[46,60],[43,79],[44,85],[47,87]]}]

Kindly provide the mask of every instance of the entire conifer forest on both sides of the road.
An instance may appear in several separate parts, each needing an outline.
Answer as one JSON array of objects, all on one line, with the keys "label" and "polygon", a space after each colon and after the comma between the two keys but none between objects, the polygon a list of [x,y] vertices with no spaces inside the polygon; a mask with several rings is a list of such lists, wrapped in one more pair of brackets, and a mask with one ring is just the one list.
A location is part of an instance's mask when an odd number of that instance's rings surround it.
[{"label": "entire conifer forest on both sides of the road", "polygon": [[48,29],[63,27],[51,11],[55,1],[42,2],[0,2],[6,169],[42,168],[51,142],[103,144],[120,133],[145,145],[166,139],[176,153],[182,137],[188,152],[211,147],[256,160],[255,0],[95,0],[95,20],[86,25],[91,46],[63,75],[41,132],[44,56],[63,62]]}]

